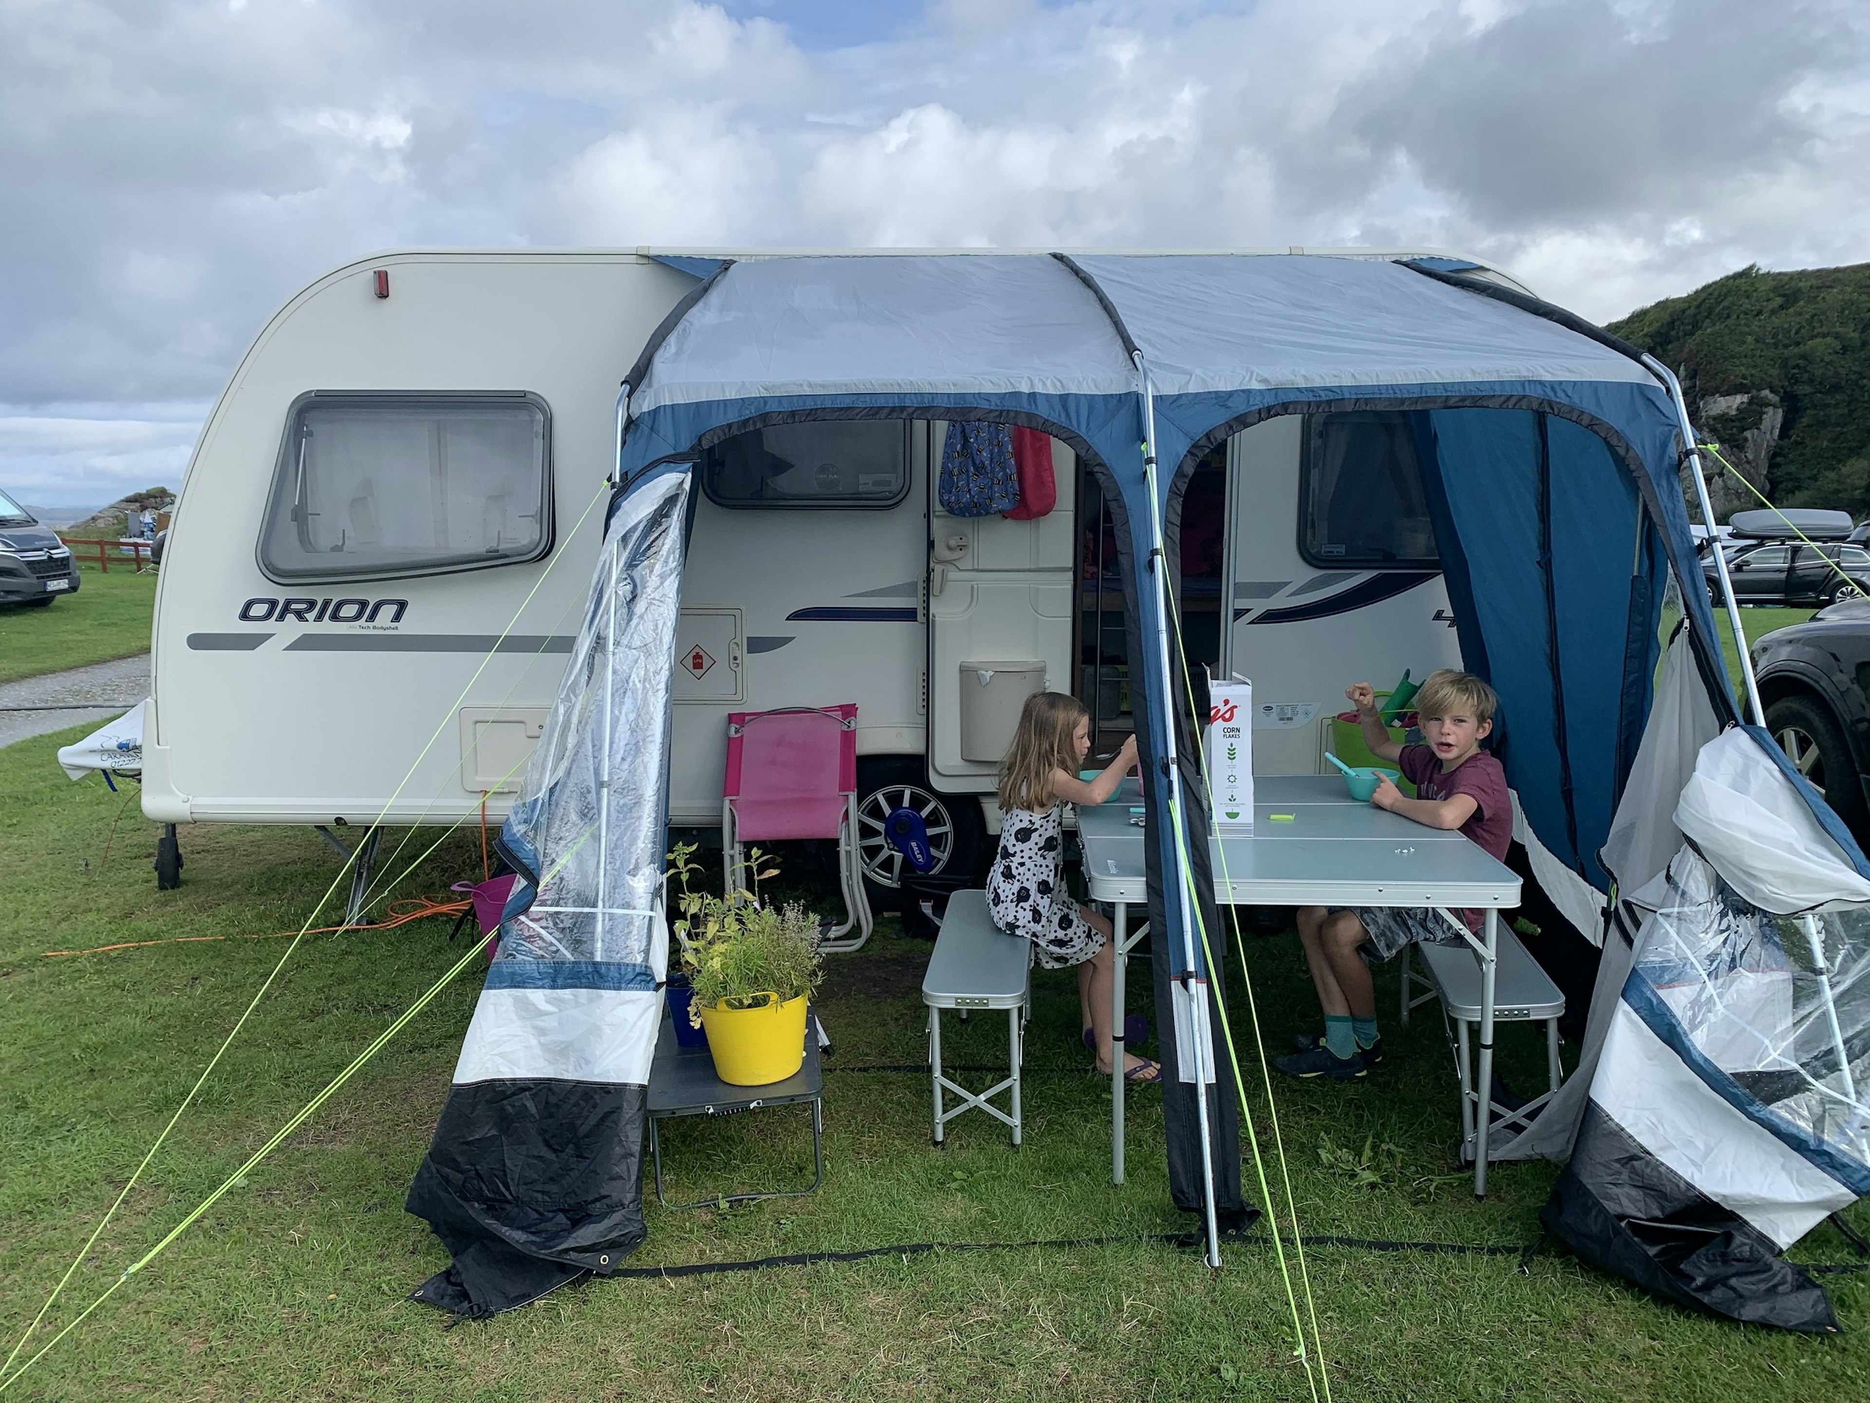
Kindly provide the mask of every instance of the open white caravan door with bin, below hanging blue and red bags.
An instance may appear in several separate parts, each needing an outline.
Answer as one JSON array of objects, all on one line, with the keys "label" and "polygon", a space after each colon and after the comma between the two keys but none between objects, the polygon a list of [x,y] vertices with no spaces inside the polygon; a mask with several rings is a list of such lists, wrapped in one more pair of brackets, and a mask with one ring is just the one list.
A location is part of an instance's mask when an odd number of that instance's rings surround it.
[{"label": "open white caravan door with bin, below hanging blue and red bags", "polygon": [[1027,692],[1072,690],[1077,455],[1053,440],[1057,505],[1030,522],[952,516],[929,441],[929,776],[991,793]]}]

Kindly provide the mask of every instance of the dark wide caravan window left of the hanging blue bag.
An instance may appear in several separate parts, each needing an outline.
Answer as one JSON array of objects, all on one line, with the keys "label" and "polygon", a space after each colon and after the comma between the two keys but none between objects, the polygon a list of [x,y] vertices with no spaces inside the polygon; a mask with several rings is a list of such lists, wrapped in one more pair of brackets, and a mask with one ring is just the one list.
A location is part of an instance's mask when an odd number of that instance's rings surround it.
[{"label": "dark wide caravan window left of the hanging blue bag", "polygon": [[701,460],[722,507],[894,507],[909,496],[907,419],[813,419],[722,440]]}]

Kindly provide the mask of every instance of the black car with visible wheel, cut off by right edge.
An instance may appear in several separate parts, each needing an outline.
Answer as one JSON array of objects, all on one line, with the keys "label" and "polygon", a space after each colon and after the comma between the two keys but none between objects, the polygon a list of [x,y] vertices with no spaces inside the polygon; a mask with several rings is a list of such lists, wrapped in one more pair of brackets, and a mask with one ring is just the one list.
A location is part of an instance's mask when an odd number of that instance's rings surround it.
[{"label": "black car with visible wheel, cut off by right edge", "polygon": [[1870,842],[1870,600],[1846,599],[1752,645],[1765,726],[1780,750]]}]

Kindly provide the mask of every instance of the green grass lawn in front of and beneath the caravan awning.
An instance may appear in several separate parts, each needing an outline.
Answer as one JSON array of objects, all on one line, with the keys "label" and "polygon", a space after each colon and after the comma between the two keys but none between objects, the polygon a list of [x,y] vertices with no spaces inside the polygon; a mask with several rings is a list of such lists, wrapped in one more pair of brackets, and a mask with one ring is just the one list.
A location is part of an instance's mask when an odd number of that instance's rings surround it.
[{"label": "green grass lawn in front of and beneath the caravan awning", "polygon": [[[6,1349],[286,945],[241,937],[295,928],[337,870],[303,829],[183,829],[183,887],[157,892],[155,831],[133,797],[95,780],[71,786],[52,763],[54,748],[80,731],[0,750],[9,868],[0,922]],[[396,894],[443,892],[477,872],[479,842],[458,834]],[[232,939],[41,956],[181,935]],[[447,922],[424,920],[301,945],[73,1278],[52,1330],[458,958],[462,947],[445,935]],[[1283,1040],[1309,1021],[1296,941],[1287,933],[1247,948],[1268,1036]],[[1129,1182],[1109,1182],[1109,1100],[1105,1083],[1083,1074],[1070,971],[1036,973],[1027,1145],[1012,1149],[978,1115],[954,1122],[948,1149],[929,1145],[928,1079],[896,1070],[924,1057],[926,958],[926,945],[888,926],[862,954],[832,958],[821,995],[838,1042],[825,1078],[825,1188],[733,1212],[671,1212],[651,1197],[638,1265],[911,1242],[1143,1238],[1189,1225],[1167,1203],[1156,1092],[1131,1098]],[[1380,1006],[1393,1006],[1393,971],[1380,978],[1389,980]],[[1137,1240],[593,1281],[449,1330],[447,1317],[404,1300],[445,1253],[402,1212],[402,1197],[447,1094],[475,984],[449,988],[11,1396],[1309,1397],[1264,1238],[1229,1246],[1219,1272],[1186,1250]],[[1137,990],[1139,1010],[1144,1001]],[[1236,982],[1230,1005],[1242,1003]],[[1002,1055],[999,1018],[950,1020],[946,1029],[956,1063]],[[1389,1064],[1365,1085],[1279,1089],[1305,1231],[1533,1240],[1554,1169],[1502,1165],[1494,1193],[1475,1203],[1451,1164],[1457,1109],[1438,1020],[1431,1012],[1406,1031],[1391,1021],[1386,1040]],[[1532,1085],[1543,1061],[1532,1031],[1507,1029],[1502,1048],[1505,1074]],[[1264,1126],[1257,1089],[1253,1098]],[[804,1175],[810,1135],[802,1111],[696,1119],[669,1128],[666,1152],[673,1193],[699,1197]],[[1870,1214],[1857,1222],[1870,1229]],[[1795,1255],[1849,1259],[1829,1229]],[[1844,1334],[1805,1339],[1655,1304],[1556,1250],[1526,1272],[1511,1255],[1320,1246],[1309,1261],[1335,1399],[1870,1397],[1870,1280],[1857,1276],[1827,1278]]]}]

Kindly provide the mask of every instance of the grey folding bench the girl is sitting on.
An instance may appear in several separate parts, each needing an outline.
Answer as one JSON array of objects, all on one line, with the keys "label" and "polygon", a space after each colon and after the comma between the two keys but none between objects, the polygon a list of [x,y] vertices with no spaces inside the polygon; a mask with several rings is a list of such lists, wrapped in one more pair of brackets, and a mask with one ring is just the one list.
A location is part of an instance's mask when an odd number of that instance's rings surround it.
[{"label": "grey folding bench the girl is sitting on", "polygon": [[[982,890],[956,892],[948,898],[941,932],[935,935],[935,954],[922,976],[922,1003],[929,1006],[929,1072],[935,1087],[935,1143],[941,1145],[946,1124],[963,1111],[985,1111],[1014,1130],[1019,1143],[1019,1051],[1025,1040],[1027,1018],[1032,1010],[1032,945],[1008,935],[987,915],[987,894]],[[941,1010],[957,1008],[967,1018],[972,1008],[1006,1010],[1006,1044],[1010,1072],[982,1092],[972,1092],[942,1076],[941,1070]],[[952,1109],[942,1109],[942,1089],[961,1098]],[[993,1098],[1012,1091],[1012,1111],[1002,1111]]]}]

